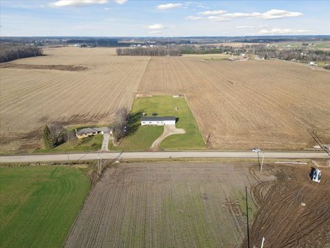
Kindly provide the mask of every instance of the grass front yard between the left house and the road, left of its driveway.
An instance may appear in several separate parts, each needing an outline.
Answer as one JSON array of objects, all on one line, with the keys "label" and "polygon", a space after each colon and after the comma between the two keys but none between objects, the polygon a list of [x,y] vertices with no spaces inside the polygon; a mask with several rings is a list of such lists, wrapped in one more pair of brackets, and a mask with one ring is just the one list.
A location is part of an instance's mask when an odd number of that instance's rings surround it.
[{"label": "grass front yard between the left house and the road, left of its driveway", "polygon": [[76,138],[50,149],[34,149],[32,153],[93,152],[101,149],[102,141],[103,135],[98,134],[81,139]]}]

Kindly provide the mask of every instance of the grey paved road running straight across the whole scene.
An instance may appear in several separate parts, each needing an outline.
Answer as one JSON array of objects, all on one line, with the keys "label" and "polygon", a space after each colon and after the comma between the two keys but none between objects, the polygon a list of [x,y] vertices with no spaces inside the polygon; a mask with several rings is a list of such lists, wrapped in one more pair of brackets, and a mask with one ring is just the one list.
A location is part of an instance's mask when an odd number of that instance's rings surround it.
[{"label": "grey paved road running straight across the whole scene", "polygon": [[[120,152],[87,154],[43,154],[0,156],[0,163],[36,161],[79,161],[116,158]],[[262,153],[259,154],[262,156]],[[122,158],[257,158],[254,152],[124,152]],[[326,152],[265,152],[265,158],[330,158]]]}]

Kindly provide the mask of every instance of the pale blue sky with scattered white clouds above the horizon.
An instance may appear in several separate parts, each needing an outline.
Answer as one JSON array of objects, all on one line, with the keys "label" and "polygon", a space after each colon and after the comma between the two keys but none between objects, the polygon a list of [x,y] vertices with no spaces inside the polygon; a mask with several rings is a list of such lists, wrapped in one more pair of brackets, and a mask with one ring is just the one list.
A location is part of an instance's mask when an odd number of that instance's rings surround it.
[{"label": "pale blue sky with scattered white clouds above the horizon", "polygon": [[1,37],[330,34],[330,0],[0,0]]}]

